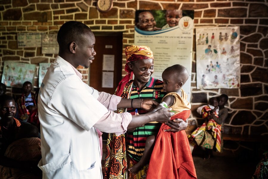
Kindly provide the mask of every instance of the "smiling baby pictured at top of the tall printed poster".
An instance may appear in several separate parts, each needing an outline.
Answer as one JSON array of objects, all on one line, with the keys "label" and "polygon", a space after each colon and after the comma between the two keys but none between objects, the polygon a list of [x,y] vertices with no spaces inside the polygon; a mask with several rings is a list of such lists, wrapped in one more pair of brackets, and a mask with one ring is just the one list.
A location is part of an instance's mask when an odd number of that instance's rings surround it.
[{"label": "smiling baby pictured at top of the tall printed poster", "polygon": [[165,18],[167,24],[162,27],[162,30],[177,26],[181,17],[182,10],[166,10]]}]

